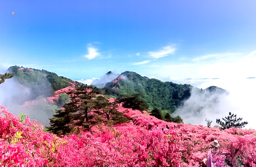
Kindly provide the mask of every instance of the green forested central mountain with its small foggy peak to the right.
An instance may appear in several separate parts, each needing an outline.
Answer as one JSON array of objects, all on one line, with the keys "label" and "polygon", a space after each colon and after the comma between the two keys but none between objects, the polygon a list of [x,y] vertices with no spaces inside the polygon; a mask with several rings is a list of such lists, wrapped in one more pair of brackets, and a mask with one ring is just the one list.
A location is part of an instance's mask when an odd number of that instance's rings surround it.
[{"label": "green forested central mountain with its small foggy peak to the right", "polygon": [[[190,97],[192,88],[193,86],[189,84],[162,82],[126,71],[112,82],[108,82],[103,89],[105,94],[120,98],[138,94],[148,104],[150,111],[157,108],[173,113]],[[216,93],[223,94],[225,90],[211,86],[205,90],[198,89],[198,92],[202,94],[208,92],[210,96]]]}]

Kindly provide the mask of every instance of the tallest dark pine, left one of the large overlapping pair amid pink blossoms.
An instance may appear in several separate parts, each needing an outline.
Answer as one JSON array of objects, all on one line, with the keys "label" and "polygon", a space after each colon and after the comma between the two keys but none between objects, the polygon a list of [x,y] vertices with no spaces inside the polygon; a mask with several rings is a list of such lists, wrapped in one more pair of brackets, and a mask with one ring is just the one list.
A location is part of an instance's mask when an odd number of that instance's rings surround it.
[{"label": "tallest dark pine, left one of the large overlapping pair amid pink blossoms", "polygon": [[75,91],[70,92],[70,103],[63,105],[64,110],[56,110],[56,114],[50,118],[48,130],[54,134],[69,134],[79,131],[79,127],[90,131],[96,124],[95,99],[99,90],[96,87],[78,85]]}]

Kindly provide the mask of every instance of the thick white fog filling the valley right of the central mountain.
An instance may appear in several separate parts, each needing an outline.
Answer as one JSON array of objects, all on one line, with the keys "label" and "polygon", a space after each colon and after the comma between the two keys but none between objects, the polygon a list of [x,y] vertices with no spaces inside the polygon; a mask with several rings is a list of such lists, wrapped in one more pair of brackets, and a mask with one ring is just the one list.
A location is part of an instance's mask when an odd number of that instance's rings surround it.
[{"label": "thick white fog filling the valley right of the central mountain", "polygon": [[[256,115],[255,78],[183,80],[179,82],[202,89],[214,85],[228,91],[228,94],[204,98],[205,94],[199,95],[198,91],[193,89],[191,97],[174,113],[174,115],[180,115],[184,123],[206,125],[205,118],[207,118],[212,120],[211,126],[214,126],[217,118],[221,119],[231,112],[236,114],[237,117],[242,117],[242,121],[248,122],[245,126],[246,129],[256,129],[254,120]],[[218,100],[213,102],[213,98]],[[200,109],[202,110],[199,112]]]}]

